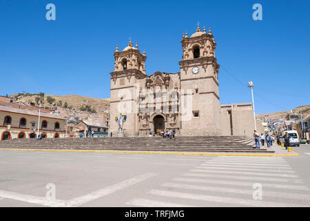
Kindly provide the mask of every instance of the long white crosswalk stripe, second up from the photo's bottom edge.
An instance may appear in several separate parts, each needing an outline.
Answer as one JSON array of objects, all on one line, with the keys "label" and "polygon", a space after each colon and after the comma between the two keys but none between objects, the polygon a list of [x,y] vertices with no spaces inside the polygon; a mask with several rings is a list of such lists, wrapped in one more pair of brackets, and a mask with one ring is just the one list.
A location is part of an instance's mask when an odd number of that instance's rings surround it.
[{"label": "long white crosswalk stripe, second up from the photo's bottom edge", "polygon": [[153,189],[148,192],[152,195],[160,195],[171,198],[182,198],[187,200],[203,200],[208,202],[220,202],[226,204],[240,204],[244,206],[278,206],[278,207],[305,207],[307,205],[302,204],[285,204],[280,202],[267,202],[262,200],[243,200],[240,198],[227,198],[213,195],[201,195],[201,194],[193,194],[193,193],[180,193],[175,191],[161,191],[158,189]]}]

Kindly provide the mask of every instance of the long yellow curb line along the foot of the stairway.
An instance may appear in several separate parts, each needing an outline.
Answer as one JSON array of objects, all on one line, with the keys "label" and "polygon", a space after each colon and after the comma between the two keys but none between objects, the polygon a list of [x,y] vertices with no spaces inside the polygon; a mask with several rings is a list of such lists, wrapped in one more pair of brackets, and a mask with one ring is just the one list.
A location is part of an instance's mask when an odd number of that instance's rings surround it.
[{"label": "long yellow curb line along the foot of the stairway", "polygon": [[141,154],[167,154],[167,155],[209,155],[209,156],[249,156],[249,157],[286,157],[299,156],[298,153],[290,154],[241,154],[241,153],[172,153],[172,152],[132,152],[132,151],[80,151],[80,150],[46,150],[46,149],[14,149],[0,148],[0,151],[54,151],[54,152],[82,152],[82,153],[141,153]]}]

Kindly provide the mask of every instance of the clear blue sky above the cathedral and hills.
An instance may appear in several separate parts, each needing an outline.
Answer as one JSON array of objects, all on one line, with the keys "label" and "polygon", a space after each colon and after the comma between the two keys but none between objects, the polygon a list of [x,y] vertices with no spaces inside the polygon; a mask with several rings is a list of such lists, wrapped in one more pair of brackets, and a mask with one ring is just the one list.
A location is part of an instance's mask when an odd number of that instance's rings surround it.
[{"label": "clear blue sky above the cathedral and hills", "polygon": [[[56,21],[45,6],[54,3]],[[252,6],[262,5],[262,21]],[[179,72],[180,40],[196,23],[218,44],[220,102],[251,102],[256,113],[310,104],[310,1],[0,0],[0,95],[44,92],[110,97],[113,52],[131,37],[147,74]]]}]

